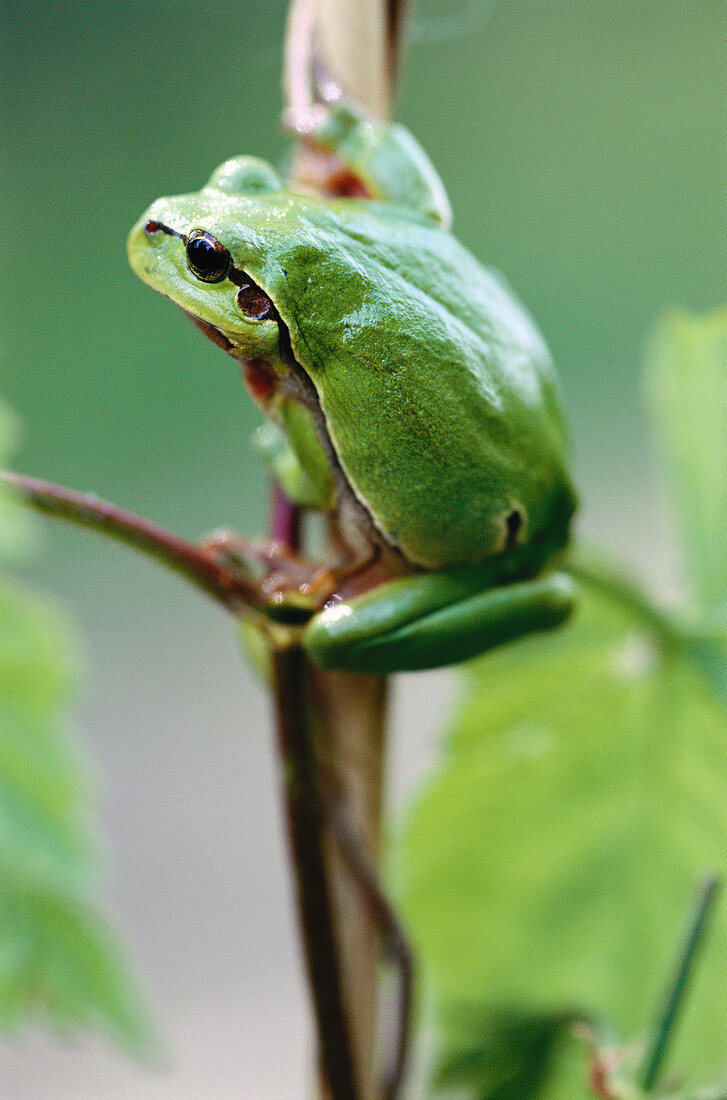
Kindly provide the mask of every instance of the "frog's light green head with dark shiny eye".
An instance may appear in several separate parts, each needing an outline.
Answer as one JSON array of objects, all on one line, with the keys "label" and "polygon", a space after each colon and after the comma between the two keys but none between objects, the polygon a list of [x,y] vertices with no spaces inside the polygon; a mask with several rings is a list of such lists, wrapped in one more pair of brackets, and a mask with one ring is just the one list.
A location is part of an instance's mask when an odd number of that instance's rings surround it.
[{"label": "frog's light green head with dark shiny eye", "polygon": [[278,317],[260,279],[286,194],[264,161],[234,157],[201,191],[157,199],[129,237],[140,278],[236,359],[279,359]]}]

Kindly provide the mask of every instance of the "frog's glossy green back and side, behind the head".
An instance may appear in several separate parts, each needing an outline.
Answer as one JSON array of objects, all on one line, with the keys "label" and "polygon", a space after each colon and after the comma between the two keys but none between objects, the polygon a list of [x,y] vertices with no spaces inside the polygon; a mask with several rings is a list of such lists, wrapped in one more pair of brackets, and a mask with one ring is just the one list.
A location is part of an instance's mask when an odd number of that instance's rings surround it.
[{"label": "frog's glossy green back and side, behind the head", "polygon": [[514,539],[564,542],[574,498],[557,380],[511,290],[395,207],[311,200],[300,213],[265,283],[385,538],[427,566]]}]

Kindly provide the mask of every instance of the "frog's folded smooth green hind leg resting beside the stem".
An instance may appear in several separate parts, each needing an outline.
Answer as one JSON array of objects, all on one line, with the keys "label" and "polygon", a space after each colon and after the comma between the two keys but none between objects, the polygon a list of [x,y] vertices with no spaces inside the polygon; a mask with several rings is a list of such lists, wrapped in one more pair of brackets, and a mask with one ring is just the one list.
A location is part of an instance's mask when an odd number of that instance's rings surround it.
[{"label": "frog's folded smooth green hind leg resting beside the stem", "polygon": [[420,573],[331,602],[302,635],[323,668],[407,672],[439,668],[562,623],[575,585],[565,573],[476,587],[477,570]]}]

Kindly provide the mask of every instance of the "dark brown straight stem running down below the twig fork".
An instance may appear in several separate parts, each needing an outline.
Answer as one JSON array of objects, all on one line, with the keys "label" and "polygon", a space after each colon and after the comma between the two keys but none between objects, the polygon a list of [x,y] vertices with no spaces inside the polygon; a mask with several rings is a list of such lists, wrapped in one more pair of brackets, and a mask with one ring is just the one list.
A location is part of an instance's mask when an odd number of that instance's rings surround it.
[{"label": "dark brown straight stem running down below the twig fork", "polygon": [[326,856],[308,662],[301,649],[289,647],[274,649],[272,663],[288,835],[322,1077],[331,1100],[356,1100],[359,1082]]}]

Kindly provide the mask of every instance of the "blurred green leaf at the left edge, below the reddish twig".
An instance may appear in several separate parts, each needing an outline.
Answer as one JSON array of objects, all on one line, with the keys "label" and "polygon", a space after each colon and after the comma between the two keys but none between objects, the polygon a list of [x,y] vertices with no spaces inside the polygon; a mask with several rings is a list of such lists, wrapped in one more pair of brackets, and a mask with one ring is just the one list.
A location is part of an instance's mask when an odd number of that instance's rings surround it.
[{"label": "blurred green leaf at the left edge, below the reddish twig", "polygon": [[[4,425],[0,409],[0,441]],[[16,518],[0,495],[0,553]],[[66,716],[76,651],[57,614],[0,579],[0,1026],[92,1024],[140,1050],[148,1028],[93,900],[91,784]]]}]

